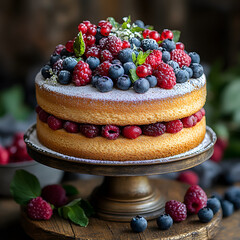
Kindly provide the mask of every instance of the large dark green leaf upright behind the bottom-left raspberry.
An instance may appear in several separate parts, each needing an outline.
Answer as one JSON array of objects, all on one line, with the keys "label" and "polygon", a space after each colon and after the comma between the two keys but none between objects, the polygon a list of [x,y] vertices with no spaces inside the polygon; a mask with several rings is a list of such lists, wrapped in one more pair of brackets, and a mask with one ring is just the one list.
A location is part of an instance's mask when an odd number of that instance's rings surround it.
[{"label": "large dark green leaf upright behind the bottom-left raspberry", "polygon": [[41,195],[38,179],[25,170],[17,170],[10,184],[14,200],[20,205],[26,205],[32,198]]}]

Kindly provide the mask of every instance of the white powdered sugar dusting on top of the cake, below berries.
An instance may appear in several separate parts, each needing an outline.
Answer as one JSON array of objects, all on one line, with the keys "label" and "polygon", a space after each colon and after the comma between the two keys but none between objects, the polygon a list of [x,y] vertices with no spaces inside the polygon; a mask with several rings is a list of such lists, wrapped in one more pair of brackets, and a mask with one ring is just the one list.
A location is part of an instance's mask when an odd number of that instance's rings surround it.
[{"label": "white powdered sugar dusting on top of the cake, below berries", "polygon": [[197,79],[189,79],[185,83],[177,83],[173,89],[162,89],[159,87],[150,88],[146,93],[139,94],[136,93],[133,89],[129,89],[127,91],[122,91],[114,88],[112,91],[107,93],[101,93],[97,91],[96,88],[92,87],[92,85],[76,87],[73,84],[69,85],[61,85],[57,83],[56,85],[51,85],[44,80],[41,73],[38,73],[36,76],[36,84],[49,91],[55,92],[59,94],[64,94],[69,97],[79,97],[85,99],[93,99],[93,100],[102,100],[102,101],[150,101],[150,100],[161,100],[167,98],[174,98],[178,96],[185,95],[194,90],[202,88],[206,83],[206,77],[203,74],[200,78]]}]

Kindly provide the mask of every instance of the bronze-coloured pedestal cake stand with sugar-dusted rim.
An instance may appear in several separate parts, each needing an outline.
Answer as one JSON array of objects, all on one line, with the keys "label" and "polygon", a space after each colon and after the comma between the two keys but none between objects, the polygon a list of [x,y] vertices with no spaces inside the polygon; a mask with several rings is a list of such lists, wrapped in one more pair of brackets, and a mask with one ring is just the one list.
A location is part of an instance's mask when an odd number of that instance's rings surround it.
[{"label": "bronze-coloured pedestal cake stand with sugar-dusted rim", "polygon": [[[177,172],[201,164],[211,157],[215,141],[215,133],[207,127],[203,142],[183,154],[141,161],[103,161],[67,156],[46,148],[38,141],[35,125],[25,134],[28,153],[36,161],[65,171],[104,176],[102,184],[94,186],[89,199],[100,219],[118,222],[129,222],[136,215],[147,219],[159,216],[164,211],[166,200],[170,199],[166,199],[165,194],[159,191],[159,184],[154,184],[148,176]],[[163,184],[169,191],[174,189],[166,181]],[[221,214],[214,219],[217,226]]]}]

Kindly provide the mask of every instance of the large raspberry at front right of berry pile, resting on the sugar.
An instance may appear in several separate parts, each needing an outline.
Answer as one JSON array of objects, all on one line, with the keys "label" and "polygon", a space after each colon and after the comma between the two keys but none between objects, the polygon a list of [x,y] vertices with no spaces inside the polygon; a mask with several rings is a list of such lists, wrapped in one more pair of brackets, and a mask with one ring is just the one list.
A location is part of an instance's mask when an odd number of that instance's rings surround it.
[{"label": "large raspberry at front right of berry pile, resting on the sugar", "polygon": [[157,85],[161,88],[171,89],[176,85],[176,76],[173,68],[164,62],[159,64],[154,75],[158,80]]}]

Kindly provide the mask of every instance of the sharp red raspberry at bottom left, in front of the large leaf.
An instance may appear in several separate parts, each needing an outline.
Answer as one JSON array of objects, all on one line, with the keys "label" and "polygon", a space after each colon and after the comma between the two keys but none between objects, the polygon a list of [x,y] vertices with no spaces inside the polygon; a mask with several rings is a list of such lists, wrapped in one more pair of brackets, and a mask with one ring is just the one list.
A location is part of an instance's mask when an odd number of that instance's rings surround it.
[{"label": "sharp red raspberry at bottom left, in front of the large leaf", "polygon": [[34,220],[48,220],[53,214],[49,203],[41,197],[33,198],[27,205],[27,215]]}]

